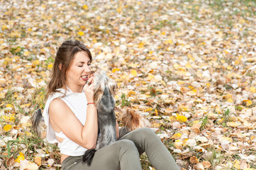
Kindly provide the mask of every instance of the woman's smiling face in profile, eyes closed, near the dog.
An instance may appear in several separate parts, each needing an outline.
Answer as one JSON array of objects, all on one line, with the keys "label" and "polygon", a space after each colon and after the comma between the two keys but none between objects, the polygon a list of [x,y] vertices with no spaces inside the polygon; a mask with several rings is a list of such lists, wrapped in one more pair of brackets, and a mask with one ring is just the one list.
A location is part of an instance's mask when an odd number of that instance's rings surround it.
[{"label": "woman's smiling face in profile, eyes closed, near the dog", "polygon": [[69,69],[67,69],[67,86],[72,89],[73,92],[80,89],[81,86],[89,79],[89,73],[91,72],[91,62],[87,55],[87,52],[81,51],[74,55],[74,60],[72,61]]}]

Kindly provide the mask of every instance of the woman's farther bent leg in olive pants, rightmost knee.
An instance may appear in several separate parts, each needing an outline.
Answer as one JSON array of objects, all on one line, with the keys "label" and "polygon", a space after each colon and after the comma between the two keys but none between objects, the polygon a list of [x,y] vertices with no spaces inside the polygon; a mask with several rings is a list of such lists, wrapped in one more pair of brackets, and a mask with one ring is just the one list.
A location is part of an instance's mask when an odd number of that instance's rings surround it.
[{"label": "woman's farther bent leg in olive pants, rightmost knee", "polygon": [[150,163],[157,170],[178,170],[179,166],[174,161],[160,138],[150,128],[140,128],[123,136],[122,140],[131,140],[138,149],[142,149],[148,156]]}]

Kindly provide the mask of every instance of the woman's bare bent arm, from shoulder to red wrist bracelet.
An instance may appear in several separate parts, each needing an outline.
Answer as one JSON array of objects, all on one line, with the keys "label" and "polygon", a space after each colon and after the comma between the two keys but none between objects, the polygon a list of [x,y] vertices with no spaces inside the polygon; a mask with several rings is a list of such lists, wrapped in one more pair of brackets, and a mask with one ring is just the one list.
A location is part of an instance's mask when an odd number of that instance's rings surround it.
[{"label": "woman's bare bent arm, from shoulder to red wrist bracelet", "polygon": [[98,135],[96,106],[87,106],[87,120],[84,126],[60,98],[50,103],[49,115],[51,125],[57,125],[70,140],[87,149],[95,148]]}]

